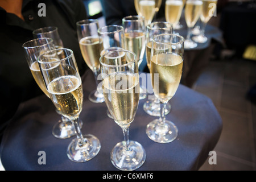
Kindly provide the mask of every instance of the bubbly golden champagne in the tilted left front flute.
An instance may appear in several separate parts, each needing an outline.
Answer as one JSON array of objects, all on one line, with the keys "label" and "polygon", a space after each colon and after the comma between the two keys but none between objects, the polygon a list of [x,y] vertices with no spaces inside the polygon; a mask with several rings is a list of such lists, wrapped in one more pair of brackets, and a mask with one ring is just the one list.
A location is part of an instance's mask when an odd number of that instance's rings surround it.
[{"label": "bubbly golden champagne in the tilted left front flute", "polygon": [[73,120],[82,110],[82,84],[75,76],[55,78],[48,84],[48,92],[53,104],[65,117]]}]

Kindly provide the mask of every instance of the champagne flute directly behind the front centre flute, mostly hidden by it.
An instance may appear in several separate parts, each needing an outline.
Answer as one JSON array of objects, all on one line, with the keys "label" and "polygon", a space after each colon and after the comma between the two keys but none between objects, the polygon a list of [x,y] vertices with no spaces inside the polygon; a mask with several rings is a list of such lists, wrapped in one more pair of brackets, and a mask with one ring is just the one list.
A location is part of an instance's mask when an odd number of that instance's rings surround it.
[{"label": "champagne flute directly behind the front centre flute, mostly hidden by it", "polygon": [[[98,28],[97,30],[99,38],[102,40],[100,55],[109,51],[114,51],[118,49],[125,48],[125,32],[123,27],[119,25],[109,25]],[[112,118],[112,115],[109,113],[109,110],[106,111],[109,118]]]}]

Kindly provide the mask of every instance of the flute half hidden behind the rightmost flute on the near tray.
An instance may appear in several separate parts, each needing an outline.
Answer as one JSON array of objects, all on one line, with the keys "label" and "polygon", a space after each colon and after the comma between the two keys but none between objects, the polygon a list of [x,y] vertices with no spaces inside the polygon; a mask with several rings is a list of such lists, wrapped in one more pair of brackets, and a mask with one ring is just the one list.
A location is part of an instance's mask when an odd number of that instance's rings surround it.
[{"label": "flute half hidden behind the rightmost flute on the near tray", "polygon": [[[147,26],[146,30],[146,60],[147,67],[150,70],[151,46],[152,39],[155,35],[159,34],[172,34],[172,24],[169,22],[152,22]],[[160,101],[157,97],[147,100],[143,105],[144,111],[152,116],[160,117]],[[167,103],[166,114],[170,113],[171,105]]]}]

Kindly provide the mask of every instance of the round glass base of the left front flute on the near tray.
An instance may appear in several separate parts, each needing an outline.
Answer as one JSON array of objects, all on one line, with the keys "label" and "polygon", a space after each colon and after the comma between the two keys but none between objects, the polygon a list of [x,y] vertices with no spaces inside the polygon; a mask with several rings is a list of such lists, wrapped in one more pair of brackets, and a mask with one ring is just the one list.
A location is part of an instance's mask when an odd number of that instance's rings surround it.
[{"label": "round glass base of the left front flute on the near tray", "polygon": [[83,137],[85,144],[80,146],[76,138],[68,146],[67,155],[73,162],[86,162],[94,158],[100,151],[101,143],[98,138],[93,135],[84,135]]}]

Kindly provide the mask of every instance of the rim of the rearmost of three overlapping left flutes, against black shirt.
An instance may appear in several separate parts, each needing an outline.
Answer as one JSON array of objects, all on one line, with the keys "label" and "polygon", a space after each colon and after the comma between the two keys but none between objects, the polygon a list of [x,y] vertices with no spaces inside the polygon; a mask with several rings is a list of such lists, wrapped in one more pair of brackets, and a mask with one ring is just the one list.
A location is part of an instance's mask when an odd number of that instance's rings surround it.
[{"label": "rim of the rearmost of three overlapping left flutes, against black shirt", "polygon": [[52,38],[56,48],[63,48],[57,27],[38,28],[32,32],[34,38]]}]

